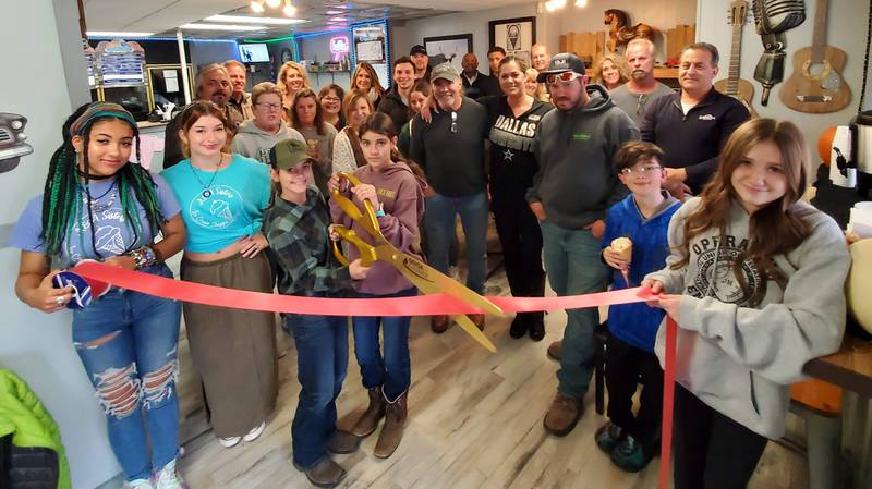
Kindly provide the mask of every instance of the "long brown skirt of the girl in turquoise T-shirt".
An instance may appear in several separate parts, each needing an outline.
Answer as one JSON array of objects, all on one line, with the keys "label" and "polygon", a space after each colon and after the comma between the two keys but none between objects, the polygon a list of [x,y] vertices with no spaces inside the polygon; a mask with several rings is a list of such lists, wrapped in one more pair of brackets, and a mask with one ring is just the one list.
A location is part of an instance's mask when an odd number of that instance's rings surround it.
[{"label": "long brown skirt of the girl in turquoise T-shirt", "polygon": [[[272,292],[269,261],[263,253],[206,264],[182,259],[181,276],[207,285]],[[184,303],[183,311],[215,435],[245,435],[276,406],[276,315],[191,303]]]}]

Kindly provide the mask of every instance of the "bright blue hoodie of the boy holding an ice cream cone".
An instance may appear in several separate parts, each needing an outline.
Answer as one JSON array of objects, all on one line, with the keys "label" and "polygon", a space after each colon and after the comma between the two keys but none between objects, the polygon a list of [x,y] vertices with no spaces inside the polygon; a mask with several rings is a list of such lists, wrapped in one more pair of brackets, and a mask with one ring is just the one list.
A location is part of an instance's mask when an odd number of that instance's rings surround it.
[{"label": "bright blue hoodie of the boy holding an ice cream cone", "polygon": [[[603,248],[616,237],[629,237],[633,243],[630,260],[630,282],[638,286],[645,274],[663,268],[669,256],[667,232],[669,220],[680,203],[668,193],[666,200],[650,218],[645,219],[632,195],[608,209]],[[611,289],[627,289],[620,270],[611,268]],[[663,310],[645,303],[625,304],[608,308],[608,330],[618,340],[646,352],[654,352],[654,339],[663,320]]]}]

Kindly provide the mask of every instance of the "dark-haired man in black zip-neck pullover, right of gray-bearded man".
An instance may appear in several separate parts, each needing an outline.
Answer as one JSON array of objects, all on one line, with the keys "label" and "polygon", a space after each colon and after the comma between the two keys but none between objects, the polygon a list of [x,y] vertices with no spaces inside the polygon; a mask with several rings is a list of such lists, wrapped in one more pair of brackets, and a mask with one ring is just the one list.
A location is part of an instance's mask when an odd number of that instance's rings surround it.
[{"label": "dark-haired man in black zip-neck pullover, right of gray-bearded man", "polygon": [[685,48],[678,66],[681,91],[654,100],[642,120],[642,139],[665,155],[663,187],[679,199],[700,193],[729,136],[751,118],[740,101],[714,89],[717,60],[717,48],[707,42]]}]

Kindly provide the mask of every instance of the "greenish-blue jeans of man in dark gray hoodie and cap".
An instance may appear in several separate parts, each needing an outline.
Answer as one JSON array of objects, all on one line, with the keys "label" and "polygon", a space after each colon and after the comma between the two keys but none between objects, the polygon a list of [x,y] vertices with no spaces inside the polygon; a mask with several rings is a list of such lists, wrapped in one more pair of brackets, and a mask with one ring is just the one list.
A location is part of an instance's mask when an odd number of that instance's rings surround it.
[{"label": "greenish-blue jeans of man in dark gray hoodie and cap", "polygon": [[[564,229],[541,223],[545,271],[557,295],[577,295],[606,290],[608,269],[600,259],[601,241],[584,229]],[[593,374],[593,333],[600,323],[595,307],[566,311],[557,391],[581,401]]]}]

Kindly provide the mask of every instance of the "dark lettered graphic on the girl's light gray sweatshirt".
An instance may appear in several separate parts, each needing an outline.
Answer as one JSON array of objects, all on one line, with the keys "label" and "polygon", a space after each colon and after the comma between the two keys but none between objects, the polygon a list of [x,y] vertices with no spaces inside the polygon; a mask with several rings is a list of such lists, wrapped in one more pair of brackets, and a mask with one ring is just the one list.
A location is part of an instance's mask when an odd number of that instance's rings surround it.
[{"label": "dark lettered graphic on the girl's light gray sweatshirt", "polygon": [[732,272],[737,258],[747,249],[748,240],[741,239],[737,242],[732,235],[725,235],[723,239],[703,237],[693,243],[691,253],[697,256],[697,276],[693,278],[693,283],[688,286],[688,294],[697,298],[711,296],[740,307],[748,305],[748,299],[761,286],[760,270],[753,261],[748,259],[742,261],[741,272],[748,282],[751,295],[744,294]]}]

